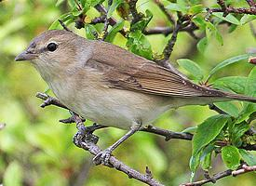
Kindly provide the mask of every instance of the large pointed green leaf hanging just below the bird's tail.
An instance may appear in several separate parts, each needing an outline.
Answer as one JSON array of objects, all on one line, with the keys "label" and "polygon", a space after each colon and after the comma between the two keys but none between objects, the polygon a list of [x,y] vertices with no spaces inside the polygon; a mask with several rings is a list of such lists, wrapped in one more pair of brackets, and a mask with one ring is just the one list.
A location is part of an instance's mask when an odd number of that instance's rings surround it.
[{"label": "large pointed green leaf hanging just below the bird's tail", "polygon": [[214,140],[220,134],[222,127],[225,126],[229,118],[230,117],[228,115],[214,115],[197,127],[195,136],[192,140],[193,156],[197,155],[202,148],[207,146],[210,141]]}]

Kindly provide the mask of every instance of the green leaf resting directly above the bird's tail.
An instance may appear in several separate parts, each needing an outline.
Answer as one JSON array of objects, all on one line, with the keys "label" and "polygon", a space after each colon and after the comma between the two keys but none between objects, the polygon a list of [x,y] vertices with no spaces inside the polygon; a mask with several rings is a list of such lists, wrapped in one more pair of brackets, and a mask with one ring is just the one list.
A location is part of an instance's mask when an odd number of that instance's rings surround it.
[{"label": "green leaf resting directly above the bird's tail", "polygon": [[247,77],[242,76],[229,76],[222,77],[213,82],[214,87],[228,88],[238,94],[244,94],[247,84]]}]

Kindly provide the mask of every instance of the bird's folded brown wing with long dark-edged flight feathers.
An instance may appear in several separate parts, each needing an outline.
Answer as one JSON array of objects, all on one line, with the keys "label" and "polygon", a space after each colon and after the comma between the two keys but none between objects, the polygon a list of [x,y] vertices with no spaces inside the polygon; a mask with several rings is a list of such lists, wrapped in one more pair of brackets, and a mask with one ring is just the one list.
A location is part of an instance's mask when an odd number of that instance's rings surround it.
[{"label": "bird's folded brown wing with long dark-edged flight feathers", "polygon": [[[102,48],[102,46],[104,46]],[[170,97],[221,97],[222,92],[197,86],[179,74],[110,44],[86,65],[102,73],[102,81],[114,88]],[[114,48],[115,47],[115,48]]]}]

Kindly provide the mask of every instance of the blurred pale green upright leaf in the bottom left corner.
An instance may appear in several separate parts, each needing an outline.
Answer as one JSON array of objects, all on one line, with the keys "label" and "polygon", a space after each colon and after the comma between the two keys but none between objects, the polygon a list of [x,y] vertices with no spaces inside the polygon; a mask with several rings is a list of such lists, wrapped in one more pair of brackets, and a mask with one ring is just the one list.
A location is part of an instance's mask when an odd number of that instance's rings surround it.
[{"label": "blurred pale green upright leaf in the bottom left corner", "polygon": [[23,170],[20,164],[16,161],[11,162],[4,174],[4,185],[5,186],[21,186]]}]

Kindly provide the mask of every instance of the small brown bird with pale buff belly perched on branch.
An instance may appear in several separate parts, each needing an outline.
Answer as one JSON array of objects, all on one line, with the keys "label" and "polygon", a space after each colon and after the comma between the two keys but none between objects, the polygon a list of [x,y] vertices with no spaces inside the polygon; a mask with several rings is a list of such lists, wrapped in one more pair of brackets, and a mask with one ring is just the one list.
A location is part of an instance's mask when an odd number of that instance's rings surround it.
[{"label": "small brown bird with pale buff belly perched on branch", "polygon": [[169,109],[228,100],[256,102],[256,98],[196,85],[127,49],[65,30],[39,34],[15,60],[30,60],[74,113],[102,126],[128,130],[94,157],[102,164],[108,164],[123,141]]}]

